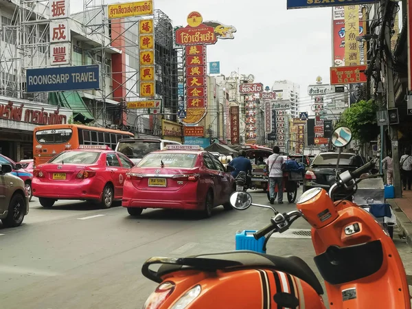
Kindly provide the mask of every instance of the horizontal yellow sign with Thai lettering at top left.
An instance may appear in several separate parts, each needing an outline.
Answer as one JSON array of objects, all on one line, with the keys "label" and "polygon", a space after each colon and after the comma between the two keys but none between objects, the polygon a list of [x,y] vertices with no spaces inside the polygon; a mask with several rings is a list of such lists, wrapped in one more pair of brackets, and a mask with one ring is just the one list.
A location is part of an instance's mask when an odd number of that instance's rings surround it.
[{"label": "horizontal yellow sign with Thai lettering at top left", "polygon": [[144,16],[153,14],[153,1],[139,1],[129,3],[109,4],[108,19],[119,19],[130,16]]}]

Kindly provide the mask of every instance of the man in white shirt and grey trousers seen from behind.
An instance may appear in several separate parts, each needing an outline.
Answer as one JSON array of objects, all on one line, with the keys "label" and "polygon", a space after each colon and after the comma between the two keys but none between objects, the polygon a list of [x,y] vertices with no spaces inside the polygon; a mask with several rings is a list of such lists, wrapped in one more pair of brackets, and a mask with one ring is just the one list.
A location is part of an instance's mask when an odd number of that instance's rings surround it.
[{"label": "man in white shirt and grey trousers seen from behind", "polygon": [[283,204],[283,171],[284,158],[279,155],[279,146],[273,147],[273,155],[268,157],[266,170],[269,174],[269,195],[271,204],[275,203],[275,186],[277,185],[277,203]]}]

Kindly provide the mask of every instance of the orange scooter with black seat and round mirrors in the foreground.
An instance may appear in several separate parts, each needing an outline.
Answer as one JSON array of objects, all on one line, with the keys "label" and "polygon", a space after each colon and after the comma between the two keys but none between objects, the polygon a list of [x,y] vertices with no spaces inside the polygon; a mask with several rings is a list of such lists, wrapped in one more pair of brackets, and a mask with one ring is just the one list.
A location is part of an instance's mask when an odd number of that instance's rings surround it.
[{"label": "orange scooter with black seat and round mirrors in the foreground", "polygon": [[[343,147],[350,137],[348,128],[338,128],[332,144]],[[283,233],[304,217],[312,226],[314,262],[325,280],[331,309],[411,308],[402,260],[388,233],[363,208],[332,200],[339,190],[353,194],[362,180],[356,179],[370,168],[367,163],[354,172],[343,172],[329,194],[321,188],[308,190],[299,198],[298,210],[280,214],[273,209],[271,224],[254,234],[259,239]],[[230,200],[239,210],[268,207],[252,204],[247,192],[234,192]],[[161,266],[153,271],[152,264]],[[297,257],[235,251],[150,258],[142,273],[159,283],[144,309],[326,308],[320,282]]]}]

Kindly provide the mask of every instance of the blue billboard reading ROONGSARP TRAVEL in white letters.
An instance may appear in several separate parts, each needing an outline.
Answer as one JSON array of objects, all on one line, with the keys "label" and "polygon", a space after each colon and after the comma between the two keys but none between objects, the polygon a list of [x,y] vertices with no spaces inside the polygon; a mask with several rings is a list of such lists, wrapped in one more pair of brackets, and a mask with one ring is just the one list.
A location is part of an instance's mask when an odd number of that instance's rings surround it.
[{"label": "blue billboard reading ROONGSARP TRAVEL in white letters", "polygon": [[99,65],[27,69],[27,92],[100,89]]}]

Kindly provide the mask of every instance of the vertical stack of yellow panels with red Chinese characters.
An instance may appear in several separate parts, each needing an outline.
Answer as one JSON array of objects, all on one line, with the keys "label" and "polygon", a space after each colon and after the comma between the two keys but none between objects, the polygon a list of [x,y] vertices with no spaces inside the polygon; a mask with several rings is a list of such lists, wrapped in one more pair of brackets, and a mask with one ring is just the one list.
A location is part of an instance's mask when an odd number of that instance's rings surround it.
[{"label": "vertical stack of yellow panels with red Chinese characters", "polygon": [[[131,4],[135,5],[136,3],[139,2]],[[151,1],[150,8],[152,8]],[[139,20],[139,83],[141,98],[153,98],[155,96],[155,34],[153,19]]]}]

